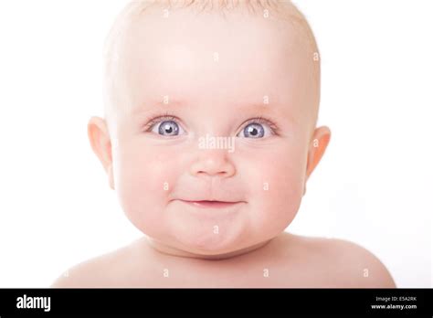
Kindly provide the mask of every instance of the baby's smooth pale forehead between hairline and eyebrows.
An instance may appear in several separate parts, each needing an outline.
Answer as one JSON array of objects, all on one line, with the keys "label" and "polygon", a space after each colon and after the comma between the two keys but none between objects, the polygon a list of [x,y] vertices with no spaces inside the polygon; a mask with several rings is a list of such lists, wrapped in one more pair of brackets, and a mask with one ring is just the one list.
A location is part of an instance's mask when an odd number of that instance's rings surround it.
[{"label": "baby's smooth pale forehead between hairline and eyebrows", "polygon": [[155,8],[131,24],[119,52],[132,110],[164,96],[296,103],[311,86],[305,40],[287,23],[260,15],[177,10],[164,16]]}]

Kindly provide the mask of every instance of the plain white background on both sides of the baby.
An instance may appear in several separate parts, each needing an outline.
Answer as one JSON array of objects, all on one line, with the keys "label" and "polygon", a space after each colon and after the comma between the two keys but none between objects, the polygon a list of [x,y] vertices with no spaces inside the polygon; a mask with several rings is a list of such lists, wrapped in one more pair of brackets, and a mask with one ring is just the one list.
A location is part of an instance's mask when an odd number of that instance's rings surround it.
[{"label": "plain white background on both sides of the baby", "polygon": [[[371,250],[397,287],[432,286],[433,3],[302,0],[332,140],[288,231]],[[123,1],[0,2],[0,287],[48,287],[142,234],[86,125]]]}]

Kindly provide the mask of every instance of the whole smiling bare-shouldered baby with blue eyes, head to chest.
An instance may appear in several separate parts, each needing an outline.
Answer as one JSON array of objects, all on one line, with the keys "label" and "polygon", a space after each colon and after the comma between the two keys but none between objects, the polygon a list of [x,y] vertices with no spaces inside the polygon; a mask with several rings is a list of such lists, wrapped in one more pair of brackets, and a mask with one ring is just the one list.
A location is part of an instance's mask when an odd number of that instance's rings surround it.
[{"label": "whole smiling bare-shouldered baby with blue eyes, head to chest", "polygon": [[331,136],[290,2],[133,1],[105,85],[90,144],[144,236],[52,287],[396,287],[359,245],[284,231]]}]

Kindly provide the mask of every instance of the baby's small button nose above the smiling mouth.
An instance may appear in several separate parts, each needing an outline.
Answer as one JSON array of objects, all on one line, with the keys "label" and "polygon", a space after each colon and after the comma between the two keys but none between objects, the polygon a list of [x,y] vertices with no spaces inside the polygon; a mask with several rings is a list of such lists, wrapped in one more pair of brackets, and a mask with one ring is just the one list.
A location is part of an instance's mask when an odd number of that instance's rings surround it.
[{"label": "baby's small button nose above the smiling mouth", "polygon": [[235,174],[235,166],[228,158],[227,149],[199,149],[198,157],[191,165],[191,174],[229,177]]}]

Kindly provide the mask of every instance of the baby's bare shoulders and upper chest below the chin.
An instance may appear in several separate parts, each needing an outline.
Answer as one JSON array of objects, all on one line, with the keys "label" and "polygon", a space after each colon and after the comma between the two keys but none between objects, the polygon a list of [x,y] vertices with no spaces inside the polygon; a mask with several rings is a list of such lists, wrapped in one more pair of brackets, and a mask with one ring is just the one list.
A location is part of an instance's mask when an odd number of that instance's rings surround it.
[{"label": "baby's bare shoulders and upper chest below the chin", "polygon": [[[367,271],[365,271],[367,270]],[[367,275],[366,275],[367,274]],[[145,238],[87,260],[51,287],[394,288],[368,250],[343,239],[281,233],[252,252],[224,260],[161,253]]]}]

